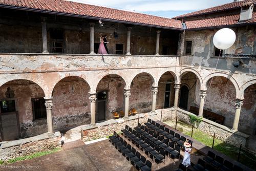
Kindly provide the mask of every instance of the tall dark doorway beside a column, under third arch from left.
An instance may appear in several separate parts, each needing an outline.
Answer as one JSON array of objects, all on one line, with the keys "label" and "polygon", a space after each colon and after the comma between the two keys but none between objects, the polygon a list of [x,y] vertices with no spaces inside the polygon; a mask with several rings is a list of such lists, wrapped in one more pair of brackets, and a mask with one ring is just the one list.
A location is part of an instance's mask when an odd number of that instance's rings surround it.
[{"label": "tall dark doorway beside a column, under third arch from left", "polygon": [[107,92],[97,93],[97,121],[105,120]]}]

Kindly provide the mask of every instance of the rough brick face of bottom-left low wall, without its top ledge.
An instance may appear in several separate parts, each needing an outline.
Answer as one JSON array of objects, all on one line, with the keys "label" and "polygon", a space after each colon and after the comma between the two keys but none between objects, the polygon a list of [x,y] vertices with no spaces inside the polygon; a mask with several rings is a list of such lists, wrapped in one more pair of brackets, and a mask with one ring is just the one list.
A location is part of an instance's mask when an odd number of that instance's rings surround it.
[{"label": "rough brick face of bottom-left low wall, without its top ledge", "polygon": [[37,152],[49,151],[56,147],[61,147],[60,136],[7,148],[0,148],[0,160],[7,161],[16,157],[32,155]]}]

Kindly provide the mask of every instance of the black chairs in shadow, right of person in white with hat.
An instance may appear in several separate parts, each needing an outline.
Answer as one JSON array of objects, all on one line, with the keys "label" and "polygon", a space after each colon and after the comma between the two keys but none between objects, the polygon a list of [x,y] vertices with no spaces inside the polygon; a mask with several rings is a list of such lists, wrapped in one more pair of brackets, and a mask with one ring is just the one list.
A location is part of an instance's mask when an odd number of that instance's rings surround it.
[{"label": "black chairs in shadow, right of person in white with hat", "polygon": [[[214,152],[208,151],[207,156],[203,158],[206,164],[209,164],[216,168],[216,170],[221,171],[243,171],[243,168],[239,167],[238,165],[233,165],[228,160],[224,160],[221,156],[216,155]],[[202,162],[202,165],[204,163]]]}]

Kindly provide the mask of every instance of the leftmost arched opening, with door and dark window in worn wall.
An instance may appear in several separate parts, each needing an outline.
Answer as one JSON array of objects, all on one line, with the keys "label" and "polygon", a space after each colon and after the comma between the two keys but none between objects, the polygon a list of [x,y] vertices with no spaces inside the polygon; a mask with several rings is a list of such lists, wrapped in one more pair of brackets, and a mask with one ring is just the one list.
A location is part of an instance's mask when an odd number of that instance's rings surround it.
[{"label": "leftmost arched opening, with door and dark window in worn wall", "polygon": [[45,93],[25,79],[0,87],[0,141],[15,140],[47,132]]}]

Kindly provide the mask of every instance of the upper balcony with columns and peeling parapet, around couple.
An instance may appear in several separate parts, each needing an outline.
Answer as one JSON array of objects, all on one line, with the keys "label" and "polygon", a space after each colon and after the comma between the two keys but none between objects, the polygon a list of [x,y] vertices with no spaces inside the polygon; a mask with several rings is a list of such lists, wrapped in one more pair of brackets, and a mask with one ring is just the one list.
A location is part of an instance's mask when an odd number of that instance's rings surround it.
[{"label": "upper balcony with columns and peeling parapet, around couple", "polygon": [[[0,71],[175,66],[179,30],[1,9]],[[100,55],[106,35],[108,55]]]}]

